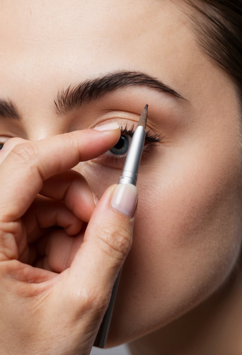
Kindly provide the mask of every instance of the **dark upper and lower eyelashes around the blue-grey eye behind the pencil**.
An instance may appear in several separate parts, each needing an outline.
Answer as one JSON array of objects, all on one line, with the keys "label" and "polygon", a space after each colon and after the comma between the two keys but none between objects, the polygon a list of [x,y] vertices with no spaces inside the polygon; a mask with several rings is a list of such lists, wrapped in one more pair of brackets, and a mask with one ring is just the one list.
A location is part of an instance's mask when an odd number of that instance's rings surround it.
[{"label": "dark upper and lower eyelashes around the blue-grey eye behind the pencil", "polygon": [[[132,125],[131,128],[128,128],[127,124],[125,126],[121,125],[120,130],[121,130],[121,135],[132,137],[135,131],[134,124]],[[149,132],[150,130],[145,133],[145,142],[149,142],[153,144],[149,144],[147,147],[145,147],[144,145],[143,153],[149,151],[150,149],[154,149],[154,147],[158,145],[157,143],[159,143],[164,138],[158,135],[158,133],[154,133],[153,135],[149,136]],[[123,163],[124,159],[126,159],[126,156],[106,155],[104,158],[105,158],[105,162],[112,162],[112,163],[115,162],[116,164],[118,164],[118,163]]]}]

